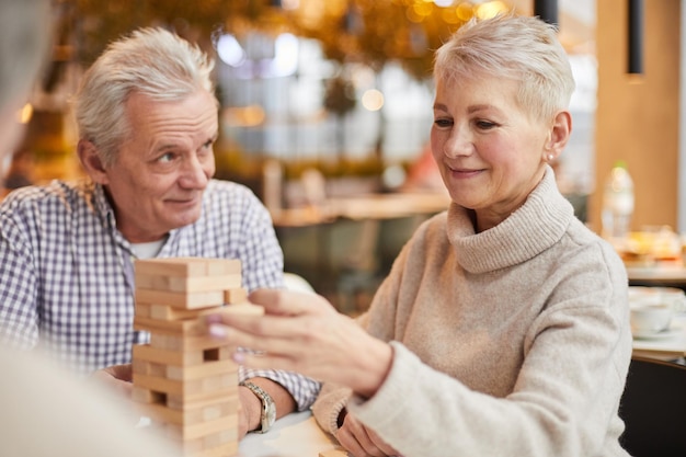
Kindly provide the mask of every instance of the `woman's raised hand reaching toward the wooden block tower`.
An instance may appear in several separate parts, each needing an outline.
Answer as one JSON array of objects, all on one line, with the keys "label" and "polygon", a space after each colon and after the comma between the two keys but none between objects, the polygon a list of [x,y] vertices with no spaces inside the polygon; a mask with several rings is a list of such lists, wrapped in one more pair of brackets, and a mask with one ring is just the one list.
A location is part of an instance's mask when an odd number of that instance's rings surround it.
[{"label": "woman's raised hand reaching toward the wooden block tower", "polygon": [[351,387],[371,397],[390,369],[392,349],[339,313],[323,297],[293,290],[260,289],[250,301],[264,316],[217,313],[209,333],[236,347],[236,363],[256,369],[285,369]]}]

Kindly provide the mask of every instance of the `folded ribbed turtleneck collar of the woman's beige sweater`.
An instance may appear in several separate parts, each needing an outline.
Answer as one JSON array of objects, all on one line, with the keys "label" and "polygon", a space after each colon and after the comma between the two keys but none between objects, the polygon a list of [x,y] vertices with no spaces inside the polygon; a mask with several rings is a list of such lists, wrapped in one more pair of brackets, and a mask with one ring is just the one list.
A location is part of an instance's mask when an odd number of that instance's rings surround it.
[{"label": "folded ribbed turtleneck collar of the woman's beige sweater", "polygon": [[574,208],[558,191],[550,167],[524,205],[498,226],[476,233],[469,213],[453,203],[447,231],[459,264],[476,274],[513,266],[538,255],[562,238],[574,217]]}]

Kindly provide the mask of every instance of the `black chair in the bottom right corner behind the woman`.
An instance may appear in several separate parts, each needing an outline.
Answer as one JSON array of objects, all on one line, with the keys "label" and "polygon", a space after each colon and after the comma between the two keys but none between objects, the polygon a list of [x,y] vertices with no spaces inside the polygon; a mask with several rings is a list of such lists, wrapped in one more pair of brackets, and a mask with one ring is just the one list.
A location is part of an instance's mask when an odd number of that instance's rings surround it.
[{"label": "black chair in the bottom right corner behind the woman", "polygon": [[686,366],[681,362],[631,358],[619,415],[626,424],[620,443],[633,457],[686,456]]}]

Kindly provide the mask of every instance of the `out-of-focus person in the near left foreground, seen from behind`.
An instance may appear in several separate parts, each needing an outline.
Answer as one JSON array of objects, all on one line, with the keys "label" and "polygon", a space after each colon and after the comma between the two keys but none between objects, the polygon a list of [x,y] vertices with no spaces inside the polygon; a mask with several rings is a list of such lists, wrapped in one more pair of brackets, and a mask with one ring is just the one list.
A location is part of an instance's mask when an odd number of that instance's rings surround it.
[{"label": "out-of-focus person in the near left foreground, seen from behind", "polygon": [[[22,137],[16,113],[46,57],[50,22],[48,0],[0,0],[0,161]],[[135,430],[135,418],[110,392],[72,379],[43,354],[0,346],[0,455],[178,454],[161,438]]]}]

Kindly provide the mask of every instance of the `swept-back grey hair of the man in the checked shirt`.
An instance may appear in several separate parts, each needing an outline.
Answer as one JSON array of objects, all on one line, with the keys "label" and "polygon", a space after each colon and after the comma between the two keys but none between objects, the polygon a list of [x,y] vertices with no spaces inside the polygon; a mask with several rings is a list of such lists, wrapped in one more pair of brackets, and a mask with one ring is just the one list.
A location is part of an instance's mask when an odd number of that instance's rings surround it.
[{"label": "swept-back grey hair of the man in the checked shirt", "polygon": [[198,90],[214,93],[214,60],[163,28],[141,28],[112,43],[84,73],[75,98],[79,138],[91,141],[103,164],[116,160],[133,126],[125,104],[134,92],[176,101]]}]

